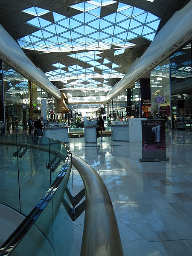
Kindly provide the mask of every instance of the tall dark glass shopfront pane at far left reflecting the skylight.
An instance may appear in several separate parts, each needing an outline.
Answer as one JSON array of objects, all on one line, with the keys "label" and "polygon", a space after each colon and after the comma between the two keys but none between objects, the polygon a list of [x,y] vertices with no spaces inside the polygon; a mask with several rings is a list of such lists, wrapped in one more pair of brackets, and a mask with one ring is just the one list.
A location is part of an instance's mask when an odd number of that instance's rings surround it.
[{"label": "tall dark glass shopfront pane at far left reflecting the skylight", "polygon": [[6,132],[27,131],[28,80],[3,63],[3,84]]}]

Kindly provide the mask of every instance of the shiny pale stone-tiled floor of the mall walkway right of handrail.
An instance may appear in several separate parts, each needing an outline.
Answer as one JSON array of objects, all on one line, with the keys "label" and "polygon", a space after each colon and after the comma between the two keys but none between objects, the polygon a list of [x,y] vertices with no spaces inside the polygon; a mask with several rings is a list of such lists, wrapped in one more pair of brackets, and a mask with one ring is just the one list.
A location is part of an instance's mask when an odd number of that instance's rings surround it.
[{"label": "shiny pale stone-tiled floor of the mall walkway right of handrail", "polygon": [[[70,138],[73,154],[102,177],[116,214],[125,256],[192,255],[192,133],[166,133],[169,161],[140,162],[141,143]],[[74,187],[83,187],[76,170]],[[75,221],[79,256],[84,215]],[[79,241],[79,242],[78,242]]]}]

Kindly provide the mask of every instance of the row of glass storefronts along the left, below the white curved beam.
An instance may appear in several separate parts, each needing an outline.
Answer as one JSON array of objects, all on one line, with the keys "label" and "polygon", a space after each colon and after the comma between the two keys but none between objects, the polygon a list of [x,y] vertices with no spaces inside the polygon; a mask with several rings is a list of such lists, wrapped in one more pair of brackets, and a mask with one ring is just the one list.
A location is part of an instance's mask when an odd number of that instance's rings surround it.
[{"label": "row of glass storefronts along the left, below the white curved beam", "polygon": [[41,116],[41,99],[47,105],[44,119],[53,119],[55,98],[0,61],[0,119],[6,133],[27,132],[29,117]]}]

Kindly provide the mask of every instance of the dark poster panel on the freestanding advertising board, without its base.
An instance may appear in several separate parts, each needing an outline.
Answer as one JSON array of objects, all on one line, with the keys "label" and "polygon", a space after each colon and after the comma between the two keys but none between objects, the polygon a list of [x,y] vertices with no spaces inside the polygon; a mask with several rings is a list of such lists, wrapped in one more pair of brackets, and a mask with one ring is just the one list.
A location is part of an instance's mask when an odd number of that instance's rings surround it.
[{"label": "dark poster panel on the freestanding advertising board, without its base", "polygon": [[143,151],[166,150],[165,120],[142,120]]}]

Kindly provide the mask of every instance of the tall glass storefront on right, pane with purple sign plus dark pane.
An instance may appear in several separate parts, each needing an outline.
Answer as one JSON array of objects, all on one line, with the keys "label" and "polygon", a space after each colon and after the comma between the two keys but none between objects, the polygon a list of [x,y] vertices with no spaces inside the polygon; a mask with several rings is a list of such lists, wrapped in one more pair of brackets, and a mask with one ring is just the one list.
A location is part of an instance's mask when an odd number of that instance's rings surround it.
[{"label": "tall glass storefront on right, pane with purple sign plus dark pane", "polygon": [[151,70],[151,109],[175,129],[192,128],[191,42]]}]

